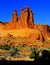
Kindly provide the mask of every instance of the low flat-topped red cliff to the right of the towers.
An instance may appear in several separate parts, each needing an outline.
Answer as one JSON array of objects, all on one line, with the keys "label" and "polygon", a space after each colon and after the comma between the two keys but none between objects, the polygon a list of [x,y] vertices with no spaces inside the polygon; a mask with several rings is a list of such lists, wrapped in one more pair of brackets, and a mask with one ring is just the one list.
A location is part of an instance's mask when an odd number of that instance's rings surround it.
[{"label": "low flat-topped red cliff to the right of the towers", "polygon": [[40,30],[44,36],[47,36],[47,34],[49,32],[48,25],[34,24],[34,29]]}]

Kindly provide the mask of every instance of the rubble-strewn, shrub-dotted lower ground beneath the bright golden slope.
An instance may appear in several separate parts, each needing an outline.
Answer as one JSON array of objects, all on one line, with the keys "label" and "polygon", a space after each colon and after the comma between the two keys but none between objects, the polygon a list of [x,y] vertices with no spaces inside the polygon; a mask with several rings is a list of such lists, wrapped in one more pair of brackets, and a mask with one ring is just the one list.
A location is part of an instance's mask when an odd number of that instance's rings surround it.
[{"label": "rubble-strewn, shrub-dotted lower ground beneath the bright golden slope", "polygon": [[15,37],[8,34],[7,37],[0,37],[0,60],[18,60],[18,58],[35,60],[43,58],[46,52],[50,56],[49,43],[50,40],[33,40],[29,37]]}]

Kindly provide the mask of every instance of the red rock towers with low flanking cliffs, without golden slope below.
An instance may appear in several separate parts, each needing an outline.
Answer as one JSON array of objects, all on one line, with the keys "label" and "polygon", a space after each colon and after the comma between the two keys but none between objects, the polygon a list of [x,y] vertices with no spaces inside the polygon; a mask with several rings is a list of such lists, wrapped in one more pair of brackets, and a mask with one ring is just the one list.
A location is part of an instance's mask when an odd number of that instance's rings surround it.
[{"label": "red rock towers with low flanking cliffs, without golden slope below", "polygon": [[17,11],[14,10],[9,23],[0,22],[0,30],[17,30],[23,28],[35,29],[40,31],[39,35],[31,34],[31,38],[32,36],[34,37],[34,39],[38,39],[40,37],[39,39],[41,40],[43,36],[50,37],[50,26],[34,24],[33,13],[27,6],[24,7],[24,9],[20,9],[19,17]]}]

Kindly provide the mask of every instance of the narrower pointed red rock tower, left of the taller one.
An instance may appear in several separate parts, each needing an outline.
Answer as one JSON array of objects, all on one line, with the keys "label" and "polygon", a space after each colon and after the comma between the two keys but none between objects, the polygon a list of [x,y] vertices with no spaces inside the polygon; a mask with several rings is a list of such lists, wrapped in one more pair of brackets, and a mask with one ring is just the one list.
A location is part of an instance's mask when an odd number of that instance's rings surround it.
[{"label": "narrower pointed red rock tower, left of the taller one", "polygon": [[12,16],[11,16],[11,19],[10,19],[10,29],[15,29],[16,28],[16,24],[18,22],[18,15],[17,15],[17,11],[14,10]]}]

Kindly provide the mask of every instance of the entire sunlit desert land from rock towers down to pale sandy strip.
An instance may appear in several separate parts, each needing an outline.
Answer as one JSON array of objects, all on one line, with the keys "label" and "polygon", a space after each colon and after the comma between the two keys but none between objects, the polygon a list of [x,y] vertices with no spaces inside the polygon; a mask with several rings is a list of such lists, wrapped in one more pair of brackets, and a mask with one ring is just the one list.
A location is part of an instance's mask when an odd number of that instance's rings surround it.
[{"label": "entire sunlit desert land from rock towers down to pale sandy strip", "polygon": [[50,52],[50,26],[34,24],[27,6],[20,9],[19,17],[14,10],[10,22],[0,22],[0,60],[33,61],[35,52],[41,57],[42,50]]}]

